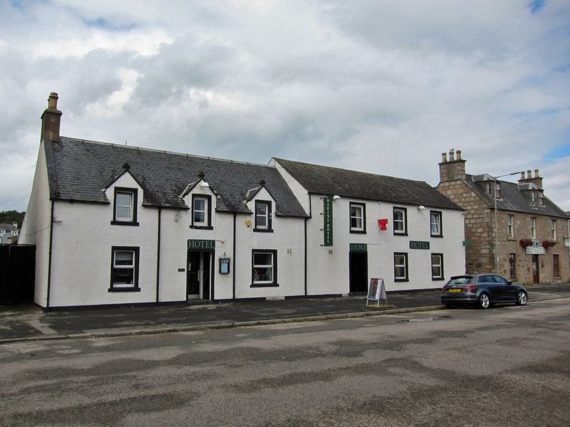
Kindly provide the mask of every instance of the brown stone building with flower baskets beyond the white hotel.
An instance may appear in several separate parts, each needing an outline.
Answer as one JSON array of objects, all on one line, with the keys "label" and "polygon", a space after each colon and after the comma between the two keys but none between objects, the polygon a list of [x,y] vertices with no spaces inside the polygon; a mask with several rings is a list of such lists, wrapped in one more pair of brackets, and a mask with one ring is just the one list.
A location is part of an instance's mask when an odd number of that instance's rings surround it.
[{"label": "brown stone building with flower baskets beyond the white hotel", "polygon": [[[568,221],[544,195],[538,169],[501,176],[465,172],[461,151],[442,153],[437,189],[465,209],[467,273],[499,273],[523,285],[570,281]],[[518,182],[499,178],[519,174]]]}]

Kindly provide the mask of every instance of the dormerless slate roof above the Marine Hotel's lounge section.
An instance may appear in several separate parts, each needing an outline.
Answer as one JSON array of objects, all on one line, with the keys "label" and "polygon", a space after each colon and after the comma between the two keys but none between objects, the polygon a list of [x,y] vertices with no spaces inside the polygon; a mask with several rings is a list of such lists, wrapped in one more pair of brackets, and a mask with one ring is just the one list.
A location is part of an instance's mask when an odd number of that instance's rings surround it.
[{"label": "dormerless slate roof above the Marine Hotel's lounge section", "polygon": [[463,210],[424,181],[356,172],[285,159],[275,158],[275,160],[309,193]]}]

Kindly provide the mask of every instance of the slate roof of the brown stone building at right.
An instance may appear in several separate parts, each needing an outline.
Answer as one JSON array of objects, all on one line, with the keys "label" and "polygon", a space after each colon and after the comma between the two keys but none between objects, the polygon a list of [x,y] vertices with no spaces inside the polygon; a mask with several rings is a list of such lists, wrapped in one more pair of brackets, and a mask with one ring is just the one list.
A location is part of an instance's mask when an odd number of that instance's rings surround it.
[{"label": "slate roof of the brown stone building at right", "polygon": [[[487,175],[491,177],[491,175]],[[472,189],[477,191],[488,203],[489,207],[494,206],[492,195],[487,193],[487,183],[492,179],[485,179],[485,175],[470,175],[465,176],[467,184]],[[504,211],[524,212],[525,214],[557,216],[568,219],[568,216],[560,209],[553,201],[544,196],[544,206],[538,206],[532,202],[530,194],[522,189],[529,188],[529,184],[519,185],[514,182],[497,180],[500,183],[501,198],[497,199],[497,209]],[[538,188],[538,187],[537,187]]]}]

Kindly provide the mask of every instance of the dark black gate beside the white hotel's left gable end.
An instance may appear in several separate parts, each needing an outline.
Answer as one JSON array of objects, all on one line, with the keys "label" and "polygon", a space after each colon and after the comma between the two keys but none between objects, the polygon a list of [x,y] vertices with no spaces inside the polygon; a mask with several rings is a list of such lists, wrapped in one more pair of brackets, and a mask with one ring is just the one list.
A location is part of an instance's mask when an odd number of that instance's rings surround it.
[{"label": "dark black gate beside the white hotel's left gable end", "polygon": [[33,302],[36,246],[0,245],[0,304]]}]

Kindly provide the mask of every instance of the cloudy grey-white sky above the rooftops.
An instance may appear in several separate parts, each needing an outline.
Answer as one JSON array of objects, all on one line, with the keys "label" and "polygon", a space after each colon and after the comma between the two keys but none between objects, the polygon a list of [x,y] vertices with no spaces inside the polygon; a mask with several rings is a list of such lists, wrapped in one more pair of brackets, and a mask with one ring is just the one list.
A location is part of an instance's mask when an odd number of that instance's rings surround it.
[{"label": "cloudy grey-white sky above the rooftops", "polygon": [[570,211],[568,0],[0,0],[0,23],[0,211],[26,210],[51,92],[68,137],[432,186],[461,149]]}]

